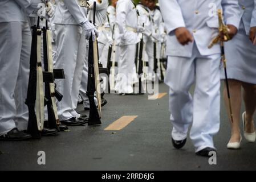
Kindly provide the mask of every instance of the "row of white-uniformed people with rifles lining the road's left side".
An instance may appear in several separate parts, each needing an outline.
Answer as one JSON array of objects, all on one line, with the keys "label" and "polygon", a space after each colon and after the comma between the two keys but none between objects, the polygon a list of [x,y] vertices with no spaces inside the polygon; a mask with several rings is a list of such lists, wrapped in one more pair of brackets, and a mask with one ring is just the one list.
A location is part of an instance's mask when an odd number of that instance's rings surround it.
[{"label": "row of white-uniformed people with rifles lining the road's left side", "polygon": [[[156,1],[3,0],[0,10],[0,140],[55,135],[88,122],[76,107],[90,109],[90,39],[97,39],[100,74],[112,78],[101,77],[104,92],[108,85],[134,92],[140,40],[145,80],[164,77],[166,35]],[[104,92],[93,97],[96,107],[107,104]]]}]

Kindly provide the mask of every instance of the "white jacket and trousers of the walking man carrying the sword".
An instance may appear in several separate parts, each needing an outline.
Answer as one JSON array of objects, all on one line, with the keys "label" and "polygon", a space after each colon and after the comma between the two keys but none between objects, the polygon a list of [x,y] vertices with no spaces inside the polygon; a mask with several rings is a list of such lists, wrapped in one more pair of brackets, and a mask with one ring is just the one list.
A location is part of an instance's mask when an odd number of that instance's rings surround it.
[{"label": "white jacket and trousers of the walking man carrying the sword", "polygon": [[[209,15],[210,3],[224,10],[225,22],[239,26],[239,7],[236,0],[177,1],[160,0],[167,38],[168,66],[165,83],[169,90],[172,138],[186,138],[188,128],[196,152],[214,148],[213,135],[220,127],[220,45],[208,49],[210,40],[218,34],[218,16]],[[175,18],[169,18],[171,15]],[[187,46],[178,43],[174,30],[186,27],[194,42]],[[194,97],[189,88],[196,82]]]}]

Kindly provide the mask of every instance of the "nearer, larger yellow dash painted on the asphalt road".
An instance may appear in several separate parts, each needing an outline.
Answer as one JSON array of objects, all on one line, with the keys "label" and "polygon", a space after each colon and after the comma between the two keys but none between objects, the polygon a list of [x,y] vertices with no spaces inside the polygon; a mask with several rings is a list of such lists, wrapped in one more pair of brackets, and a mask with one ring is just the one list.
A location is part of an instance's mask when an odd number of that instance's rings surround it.
[{"label": "nearer, larger yellow dash painted on the asphalt road", "polygon": [[121,130],[137,117],[137,115],[124,115],[123,117],[111,123],[104,130]]}]

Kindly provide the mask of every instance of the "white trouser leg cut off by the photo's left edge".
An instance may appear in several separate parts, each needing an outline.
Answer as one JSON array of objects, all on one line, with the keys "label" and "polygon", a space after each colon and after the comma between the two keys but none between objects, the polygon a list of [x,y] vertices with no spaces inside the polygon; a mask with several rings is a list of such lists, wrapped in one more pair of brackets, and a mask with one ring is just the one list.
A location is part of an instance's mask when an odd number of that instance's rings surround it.
[{"label": "white trouser leg cut off by the photo's left edge", "polygon": [[14,90],[21,57],[22,22],[0,23],[0,35],[0,135],[2,135],[16,127]]}]

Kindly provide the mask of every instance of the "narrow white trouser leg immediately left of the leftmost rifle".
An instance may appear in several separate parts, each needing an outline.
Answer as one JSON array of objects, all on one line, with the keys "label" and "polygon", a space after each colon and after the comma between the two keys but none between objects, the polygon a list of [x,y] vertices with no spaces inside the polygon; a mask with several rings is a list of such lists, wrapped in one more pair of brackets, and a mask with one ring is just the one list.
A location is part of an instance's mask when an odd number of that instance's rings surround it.
[{"label": "narrow white trouser leg immediately left of the leftmost rifle", "polygon": [[29,85],[31,40],[29,23],[23,23],[21,62],[14,94],[17,108],[15,123],[19,130],[26,130],[29,121],[29,110],[25,100],[27,98],[27,86]]}]

